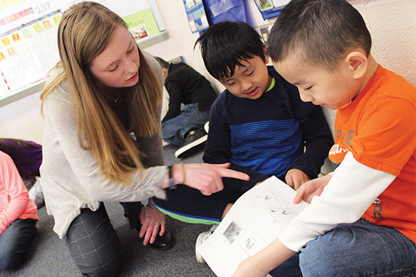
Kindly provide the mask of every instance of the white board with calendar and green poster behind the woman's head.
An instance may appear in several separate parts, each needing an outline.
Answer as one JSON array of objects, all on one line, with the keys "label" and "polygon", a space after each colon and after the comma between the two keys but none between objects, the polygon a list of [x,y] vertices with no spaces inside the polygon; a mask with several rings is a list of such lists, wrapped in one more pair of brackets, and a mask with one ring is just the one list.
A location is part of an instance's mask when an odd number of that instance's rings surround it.
[{"label": "white board with calendar and green poster behind the woman's head", "polygon": [[[0,0],[0,106],[40,91],[59,62],[62,12],[80,1]],[[98,0],[126,22],[141,48],[167,39],[152,0]]]}]

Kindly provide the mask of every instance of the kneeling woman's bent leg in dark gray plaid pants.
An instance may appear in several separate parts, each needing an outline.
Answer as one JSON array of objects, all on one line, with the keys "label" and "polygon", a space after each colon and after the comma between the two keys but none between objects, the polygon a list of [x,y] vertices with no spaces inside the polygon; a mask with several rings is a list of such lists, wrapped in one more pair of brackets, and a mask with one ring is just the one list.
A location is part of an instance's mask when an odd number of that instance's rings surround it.
[{"label": "kneeling woman's bent leg in dark gray plaid pants", "polygon": [[117,276],[121,269],[121,242],[101,204],[97,211],[81,209],[69,226],[66,239],[83,276]]}]

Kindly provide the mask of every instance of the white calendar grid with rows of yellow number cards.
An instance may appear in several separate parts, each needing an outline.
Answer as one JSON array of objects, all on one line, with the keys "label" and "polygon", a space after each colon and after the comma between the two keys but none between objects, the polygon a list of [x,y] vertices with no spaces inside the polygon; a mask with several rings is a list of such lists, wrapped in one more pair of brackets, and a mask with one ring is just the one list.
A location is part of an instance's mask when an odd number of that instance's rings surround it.
[{"label": "white calendar grid with rows of yellow number cards", "polygon": [[0,71],[8,87],[0,99],[41,82],[60,60],[56,37],[61,17],[60,10],[51,12],[0,36]]}]

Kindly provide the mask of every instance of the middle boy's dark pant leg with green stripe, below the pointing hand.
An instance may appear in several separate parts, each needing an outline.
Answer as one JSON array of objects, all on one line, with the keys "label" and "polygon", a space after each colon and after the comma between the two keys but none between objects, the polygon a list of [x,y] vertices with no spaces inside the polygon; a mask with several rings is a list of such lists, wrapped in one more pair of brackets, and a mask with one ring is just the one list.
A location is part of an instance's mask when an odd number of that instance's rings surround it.
[{"label": "middle boy's dark pant leg with green stripe, below the pointing hand", "polygon": [[159,210],[176,220],[196,224],[218,224],[227,204],[236,202],[241,196],[226,184],[223,190],[209,196],[184,185],[166,190],[166,193],[166,200],[153,198]]}]

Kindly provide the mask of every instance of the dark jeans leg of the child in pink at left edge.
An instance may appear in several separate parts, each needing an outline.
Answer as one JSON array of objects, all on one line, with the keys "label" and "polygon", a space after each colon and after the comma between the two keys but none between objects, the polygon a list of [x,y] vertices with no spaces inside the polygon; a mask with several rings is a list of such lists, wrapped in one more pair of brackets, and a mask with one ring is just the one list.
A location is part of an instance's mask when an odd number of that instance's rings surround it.
[{"label": "dark jeans leg of the child in pink at left edge", "polygon": [[15,269],[23,264],[36,231],[36,220],[17,219],[1,233],[0,270]]}]

